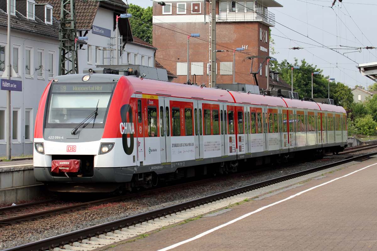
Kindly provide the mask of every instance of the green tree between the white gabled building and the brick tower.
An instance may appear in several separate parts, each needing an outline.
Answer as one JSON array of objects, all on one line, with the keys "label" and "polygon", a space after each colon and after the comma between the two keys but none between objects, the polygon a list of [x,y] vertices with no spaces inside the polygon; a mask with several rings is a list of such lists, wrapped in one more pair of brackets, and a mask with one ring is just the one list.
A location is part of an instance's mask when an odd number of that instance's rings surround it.
[{"label": "green tree between the white gabled building and the brick tower", "polygon": [[152,7],[141,8],[132,3],[130,3],[129,7],[127,12],[132,14],[132,18],[129,19],[132,35],[152,44]]}]

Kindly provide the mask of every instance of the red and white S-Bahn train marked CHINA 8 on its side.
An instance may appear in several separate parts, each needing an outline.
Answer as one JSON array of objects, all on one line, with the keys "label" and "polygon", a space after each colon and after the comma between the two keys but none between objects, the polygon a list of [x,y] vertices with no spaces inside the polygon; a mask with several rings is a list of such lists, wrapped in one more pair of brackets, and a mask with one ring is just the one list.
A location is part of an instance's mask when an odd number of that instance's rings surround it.
[{"label": "red and white S-Bahn train marked CHINA 8 on its side", "polygon": [[111,74],[57,76],[35,122],[34,175],[112,192],[347,146],[343,107]]}]

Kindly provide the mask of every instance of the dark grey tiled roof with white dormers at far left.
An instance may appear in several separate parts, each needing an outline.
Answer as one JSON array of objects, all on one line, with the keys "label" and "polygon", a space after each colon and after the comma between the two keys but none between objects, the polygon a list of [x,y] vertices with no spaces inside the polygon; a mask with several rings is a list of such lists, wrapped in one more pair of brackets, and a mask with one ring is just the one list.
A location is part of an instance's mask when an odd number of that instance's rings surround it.
[{"label": "dark grey tiled roof with white dormers at far left", "polygon": [[[0,26],[8,27],[8,14],[0,9]],[[35,17],[30,20],[23,16],[20,12],[16,11],[16,15],[11,15],[11,28],[20,30],[21,32],[35,33],[35,35],[59,39],[59,23],[53,18],[52,25],[44,23]]]}]

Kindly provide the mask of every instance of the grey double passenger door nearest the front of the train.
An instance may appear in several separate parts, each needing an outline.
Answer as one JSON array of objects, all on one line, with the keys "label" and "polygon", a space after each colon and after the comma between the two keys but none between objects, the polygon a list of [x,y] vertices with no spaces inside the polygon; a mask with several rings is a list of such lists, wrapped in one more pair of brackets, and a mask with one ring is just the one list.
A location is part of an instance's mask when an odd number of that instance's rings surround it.
[{"label": "grey double passenger door nearest the front of the train", "polygon": [[161,163],[172,161],[170,141],[170,102],[168,97],[158,97],[160,123]]}]

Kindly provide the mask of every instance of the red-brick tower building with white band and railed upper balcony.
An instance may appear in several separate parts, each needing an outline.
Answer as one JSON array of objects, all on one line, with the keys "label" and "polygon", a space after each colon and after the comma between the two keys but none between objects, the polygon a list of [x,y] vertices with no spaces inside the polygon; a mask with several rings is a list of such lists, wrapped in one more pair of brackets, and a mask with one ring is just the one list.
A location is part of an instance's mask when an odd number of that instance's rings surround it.
[{"label": "red-brick tower building with white band and railed upper balcony", "polygon": [[[177,75],[174,82],[187,81],[187,35],[199,33],[200,37],[189,38],[189,76],[197,84],[210,84],[210,21],[209,0],[166,1],[165,6],[153,2],[153,46],[158,48],[156,59],[167,70]],[[235,53],[234,81],[255,84],[251,60],[247,56],[269,56],[270,27],[275,25],[270,7],[283,7],[274,0],[216,1],[216,84],[233,83],[233,50]],[[254,59],[253,71],[259,67],[259,87],[267,88],[267,61]],[[263,64],[263,65],[262,65]],[[193,76],[196,76],[193,79]],[[271,88],[270,88],[271,89]]]}]

